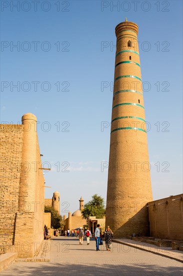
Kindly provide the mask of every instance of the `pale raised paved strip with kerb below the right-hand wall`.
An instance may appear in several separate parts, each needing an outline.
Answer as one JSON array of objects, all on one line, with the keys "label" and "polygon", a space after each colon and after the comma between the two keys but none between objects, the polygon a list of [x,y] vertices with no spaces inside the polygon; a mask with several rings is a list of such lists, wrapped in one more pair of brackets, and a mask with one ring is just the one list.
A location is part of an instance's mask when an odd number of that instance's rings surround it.
[{"label": "pale raised paved strip with kerb below the right-hand wall", "polygon": [[163,247],[163,246],[159,247],[146,242],[135,241],[135,240],[125,239],[125,238],[115,238],[115,239],[112,239],[112,241],[183,262],[183,252],[180,252],[179,250],[172,250],[171,247]]}]

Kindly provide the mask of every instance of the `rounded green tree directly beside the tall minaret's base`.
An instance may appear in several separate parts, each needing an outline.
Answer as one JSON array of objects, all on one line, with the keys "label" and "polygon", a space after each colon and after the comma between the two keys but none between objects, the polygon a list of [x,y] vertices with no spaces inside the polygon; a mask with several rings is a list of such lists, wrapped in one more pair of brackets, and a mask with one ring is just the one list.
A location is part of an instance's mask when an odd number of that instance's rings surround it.
[{"label": "rounded green tree directly beside the tall minaret's base", "polygon": [[83,210],[81,210],[81,214],[83,218],[87,218],[88,216],[95,216],[96,218],[103,218],[105,215],[105,208],[103,198],[94,194],[92,199],[84,204]]}]

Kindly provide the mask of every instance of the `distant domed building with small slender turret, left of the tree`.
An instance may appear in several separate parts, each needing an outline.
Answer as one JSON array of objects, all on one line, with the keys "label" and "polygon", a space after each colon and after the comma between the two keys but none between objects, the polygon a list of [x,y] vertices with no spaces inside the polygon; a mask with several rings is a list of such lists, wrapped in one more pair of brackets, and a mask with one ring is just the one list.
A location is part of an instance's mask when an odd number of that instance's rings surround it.
[{"label": "distant domed building with small slender turret, left of the tree", "polygon": [[69,212],[68,217],[63,216],[63,219],[65,221],[64,230],[71,230],[76,229],[78,227],[83,227],[83,225],[87,225],[86,219],[82,218],[81,210],[84,207],[83,204],[84,200],[82,197],[79,199],[79,209],[75,210],[72,214]]}]

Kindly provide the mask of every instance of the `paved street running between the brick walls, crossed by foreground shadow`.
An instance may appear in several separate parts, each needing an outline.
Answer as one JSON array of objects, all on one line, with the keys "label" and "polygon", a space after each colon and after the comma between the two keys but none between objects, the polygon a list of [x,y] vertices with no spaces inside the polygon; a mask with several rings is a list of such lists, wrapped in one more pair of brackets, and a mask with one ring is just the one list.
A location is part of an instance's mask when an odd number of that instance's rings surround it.
[{"label": "paved street running between the brick walls, crossed by foreground shadow", "polygon": [[112,251],[100,246],[95,250],[94,239],[86,245],[78,244],[77,238],[56,237],[47,243],[46,258],[49,262],[18,261],[9,265],[0,276],[45,275],[181,275],[182,263],[124,244],[112,244]]}]

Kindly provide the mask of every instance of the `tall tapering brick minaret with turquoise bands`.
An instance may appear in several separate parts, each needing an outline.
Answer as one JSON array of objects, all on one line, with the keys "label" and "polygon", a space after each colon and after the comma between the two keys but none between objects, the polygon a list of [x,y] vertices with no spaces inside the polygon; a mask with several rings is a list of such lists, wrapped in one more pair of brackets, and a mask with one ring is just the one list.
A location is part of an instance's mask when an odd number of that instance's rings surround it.
[{"label": "tall tapering brick minaret with turquoise bands", "polygon": [[127,19],[115,28],[106,202],[106,226],[114,237],[148,235],[149,228],[145,204],[152,193],[137,33],[138,26]]}]

